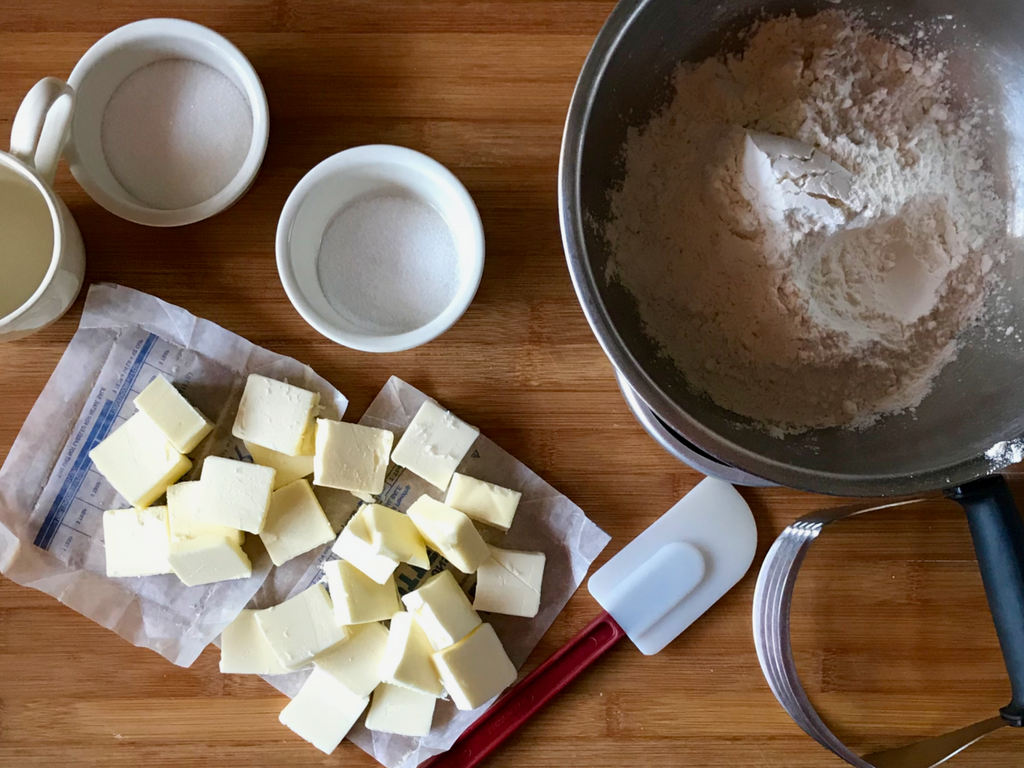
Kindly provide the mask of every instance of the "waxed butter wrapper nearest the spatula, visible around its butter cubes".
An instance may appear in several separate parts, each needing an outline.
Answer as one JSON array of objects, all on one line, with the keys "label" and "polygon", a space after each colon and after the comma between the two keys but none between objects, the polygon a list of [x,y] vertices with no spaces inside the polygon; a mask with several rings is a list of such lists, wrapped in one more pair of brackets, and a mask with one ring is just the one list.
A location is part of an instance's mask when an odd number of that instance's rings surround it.
[{"label": "waxed butter wrapper nearest the spatula, visible around its butter cubes", "polygon": [[[397,444],[416,412],[427,399],[423,392],[401,379],[392,377],[359,419],[359,424],[391,430]],[[509,657],[516,669],[519,669],[610,540],[607,534],[588,519],[582,509],[482,434],[477,437],[458,471],[522,494],[511,529],[503,534],[495,528],[478,526],[484,540],[504,549],[543,552],[547,555],[541,608],[537,616],[523,618],[481,613],[483,621],[494,626]],[[443,492],[413,472],[392,464],[384,490],[377,500],[388,507],[404,511],[423,494],[441,501],[444,498]],[[345,517],[350,516],[360,504],[347,494],[336,501],[338,506],[333,511],[339,515],[344,514]],[[348,505],[347,509],[345,504]],[[256,595],[252,607],[275,605],[322,581],[322,565],[330,559],[335,559],[335,555],[327,547],[318,552],[316,560],[307,567],[303,568],[293,561],[276,568]],[[408,564],[399,566],[395,571],[395,583],[400,594],[415,589],[430,573],[450,567],[433,551],[430,551],[430,561],[429,572]],[[455,569],[453,573],[472,594],[475,577],[466,577]],[[308,674],[307,670],[290,675],[267,676],[264,679],[282,692],[294,696]],[[429,735],[423,738],[368,730],[362,724],[364,715],[349,732],[348,738],[388,768],[413,768],[451,748],[490,703],[473,712],[460,712],[447,698],[439,699],[434,711],[433,727]]]}]

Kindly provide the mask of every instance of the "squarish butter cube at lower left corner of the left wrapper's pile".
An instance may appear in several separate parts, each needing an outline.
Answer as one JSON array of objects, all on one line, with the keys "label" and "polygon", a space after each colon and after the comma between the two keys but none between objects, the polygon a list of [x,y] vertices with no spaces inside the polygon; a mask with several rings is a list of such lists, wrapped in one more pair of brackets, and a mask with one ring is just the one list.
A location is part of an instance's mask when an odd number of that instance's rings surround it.
[{"label": "squarish butter cube at lower left corner of the left wrapper's pile", "polygon": [[170,573],[170,544],[167,507],[103,512],[103,549],[109,577]]}]

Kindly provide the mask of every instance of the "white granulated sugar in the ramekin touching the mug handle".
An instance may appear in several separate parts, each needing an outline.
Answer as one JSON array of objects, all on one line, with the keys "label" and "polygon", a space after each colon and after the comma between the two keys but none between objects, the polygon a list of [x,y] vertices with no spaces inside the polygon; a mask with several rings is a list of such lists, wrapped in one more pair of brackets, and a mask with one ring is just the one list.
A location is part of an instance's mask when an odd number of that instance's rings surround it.
[{"label": "white granulated sugar in the ramekin touching the mug handle", "polygon": [[111,96],[100,140],[114,178],[139,203],[178,210],[209,200],[252,144],[245,94],[212,67],[180,58],[136,70]]}]

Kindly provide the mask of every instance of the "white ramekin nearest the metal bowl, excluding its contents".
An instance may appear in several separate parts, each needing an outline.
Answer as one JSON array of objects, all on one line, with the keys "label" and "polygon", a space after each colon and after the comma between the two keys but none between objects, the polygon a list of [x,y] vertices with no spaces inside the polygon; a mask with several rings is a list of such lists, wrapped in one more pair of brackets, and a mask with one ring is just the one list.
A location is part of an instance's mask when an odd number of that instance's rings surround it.
[{"label": "white ramekin nearest the metal bowl, excluding its contents", "polygon": [[[339,211],[356,198],[396,187],[433,206],[451,227],[459,254],[459,287],[430,323],[384,334],[360,327],[331,306],[316,259],[324,231]],[[278,222],[278,271],[299,314],[324,336],[365,352],[398,352],[440,336],[473,301],[483,274],[483,224],[466,187],[437,161],[402,146],[355,146],[325,160],[292,190]]]}]

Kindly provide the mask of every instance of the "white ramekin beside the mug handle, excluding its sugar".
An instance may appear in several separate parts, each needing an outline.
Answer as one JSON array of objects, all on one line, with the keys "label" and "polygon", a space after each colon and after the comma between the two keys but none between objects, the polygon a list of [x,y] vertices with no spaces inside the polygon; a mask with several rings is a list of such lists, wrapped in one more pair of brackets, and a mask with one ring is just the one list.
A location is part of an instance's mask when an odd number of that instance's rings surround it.
[{"label": "white ramekin beside the mug handle, excluding its sugar", "polygon": [[[253,137],[242,168],[223,189],[188,208],[160,210],[142,205],[118,183],[103,155],[103,112],[117,87],[136,70],[165,58],[198,61],[228,78],[249,101]],[[121,27],[101,38],[68,78],[75,89],[75,116],[65,156],[82,188],[111,213],[148,226],[181,226],[202,221],[233,205],[259,172],[270,133],[263,84],[249,59],[228,40],[193,22],[147,18]]]}]

